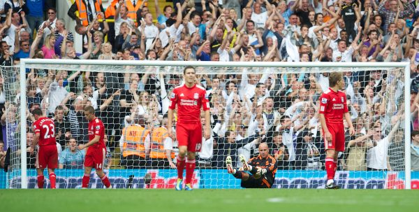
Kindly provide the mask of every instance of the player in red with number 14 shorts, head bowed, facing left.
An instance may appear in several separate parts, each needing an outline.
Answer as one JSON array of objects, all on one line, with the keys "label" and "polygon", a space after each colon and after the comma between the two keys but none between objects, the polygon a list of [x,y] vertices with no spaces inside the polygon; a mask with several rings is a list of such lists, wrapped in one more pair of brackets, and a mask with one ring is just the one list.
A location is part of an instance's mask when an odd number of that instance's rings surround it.
[{"label": "player in red with number 14 shorts, head bowed, facing left", "polygon": [[96,174],[101,178],[103,185],[106,188],[112,188],[108,176],[103,173],[103,161],[106,155],[105,141],[105,127],[103,122],[94,115],[94,108],[86,106],[84,108],[84,115],[89,121],[89,142],[78,146],[79,150],[87,148],[86,157],[84,158],[84,176],[82,180],[82,188],[87,188],[90,181],[91,169],[96,169]]}]

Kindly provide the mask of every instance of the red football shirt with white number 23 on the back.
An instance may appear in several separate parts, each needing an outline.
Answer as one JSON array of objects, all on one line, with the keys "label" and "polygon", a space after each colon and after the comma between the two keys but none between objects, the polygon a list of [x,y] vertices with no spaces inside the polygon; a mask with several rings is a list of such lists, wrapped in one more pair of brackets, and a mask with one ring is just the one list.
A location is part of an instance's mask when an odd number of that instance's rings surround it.
[{"label": "red football shirt with white number 23 on the back", "polygon": [[55,142],[54,121],[52,119],[41,117],[32,126],[35,134],[40,134],[38,146],[57,145]]}]

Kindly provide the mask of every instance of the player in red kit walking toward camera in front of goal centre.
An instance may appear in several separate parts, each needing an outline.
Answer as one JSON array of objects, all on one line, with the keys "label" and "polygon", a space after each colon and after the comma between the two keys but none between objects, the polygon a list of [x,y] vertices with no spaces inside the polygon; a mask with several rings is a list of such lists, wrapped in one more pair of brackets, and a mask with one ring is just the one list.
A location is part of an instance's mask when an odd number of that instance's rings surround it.
[{"label": "player in red kit walking toward camera in front of goal centre", "polygon": [[182,190],[183,171],[186,158],[185,190],[192,190],[191,180],[195,169],[195,154],[200,151],[203,140],[200,124],[200,108],[205,111],[205,139],[210,139],[210,102],[205,88],[196,85],[196,72],[192,66],[184,69],[185,84],[173,90],[168,111],[168,134],[172,137],[173,110],[177,106],[176,138],[179,143],[177,155],[176,190]]}]

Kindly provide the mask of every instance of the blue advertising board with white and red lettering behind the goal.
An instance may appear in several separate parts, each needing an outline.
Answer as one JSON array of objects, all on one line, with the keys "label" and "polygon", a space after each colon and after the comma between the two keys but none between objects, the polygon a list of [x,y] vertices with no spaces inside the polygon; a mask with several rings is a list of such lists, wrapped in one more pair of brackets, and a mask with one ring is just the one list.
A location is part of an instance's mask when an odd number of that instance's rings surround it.
[{"label": "blue advertising board with white and red lettering behind the goal", "polygon": [[[57,188],[81,188],[83,170],[56,170]],[[145,188],[145,174],[152,176],[149,188],[174,188],[177,171],[174,169],[110,169],[108,176],[114,188],[126,188],[130,175],[133,175],[132,188]],[[16,176],[16,175],[15,175]],[[45,172],[45,178],[47,173]],[[290,170],[278,171],[273,188],[323,188],[325,171]],[[337,171],[337,183],[348,189],[403,189],[404,172],[398,171]],[[419,171],[412,171],[411,188],[419,189]],[[20,188],[20,178],[13,178],[6,185],[6,173],[0,173],[0,188]],[[28,170],[28,188],[36,188],[36,170]],[[193,175],[193,188],[237,189],[240,181],[223,169],[196,170]],[[46,179],[46,188],[50,182]],[[102,181],[91,173],[89,188],[103,188]]]}]

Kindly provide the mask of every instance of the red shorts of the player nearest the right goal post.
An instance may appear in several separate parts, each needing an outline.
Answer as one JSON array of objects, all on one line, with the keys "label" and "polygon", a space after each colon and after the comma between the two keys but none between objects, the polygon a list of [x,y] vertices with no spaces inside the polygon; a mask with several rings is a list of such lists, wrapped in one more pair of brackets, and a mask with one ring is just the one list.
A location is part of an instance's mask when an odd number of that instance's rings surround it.
[{"label": "red shorts of the player nearest the right goal post", "polygon": [[345,150],[345,127],[344,124],[328,124],[330,134],[332,134],[332,141],[326,140],[325,132],[323,132],[323,139],[325,142],[325,150],[334,149],[337,152],[344,152]]}]

